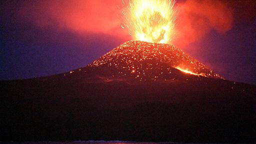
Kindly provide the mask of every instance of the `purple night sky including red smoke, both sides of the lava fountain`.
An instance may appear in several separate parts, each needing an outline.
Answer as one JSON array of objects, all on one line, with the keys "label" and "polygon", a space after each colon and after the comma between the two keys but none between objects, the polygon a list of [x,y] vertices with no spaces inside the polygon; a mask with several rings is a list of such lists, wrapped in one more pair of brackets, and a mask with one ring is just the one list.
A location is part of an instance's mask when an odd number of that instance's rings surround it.
[{"label": "purple night sky including red smoke, both sides of the lava fountain", "polygon": [[[255,0],[177,0],[176,5],[177,36],[171,44],[228,80],[256,84]],[[1,0],[0,80],[84,67],[131,40],[120,26],[118,7],[121,0]]]}]

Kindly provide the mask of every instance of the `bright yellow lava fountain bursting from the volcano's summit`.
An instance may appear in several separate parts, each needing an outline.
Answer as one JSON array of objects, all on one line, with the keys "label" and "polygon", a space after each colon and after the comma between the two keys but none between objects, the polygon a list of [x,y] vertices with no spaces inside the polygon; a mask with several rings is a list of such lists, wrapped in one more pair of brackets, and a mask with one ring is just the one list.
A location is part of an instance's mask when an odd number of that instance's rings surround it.
[{"label": "bright yellow lava fountain bursting from the volcano's summit", "polygon": [[123,25],[135,40],[168,43],[174,34],[177,13],[174,4],[175,0],[129,1],[123,11],[126,18]]}]

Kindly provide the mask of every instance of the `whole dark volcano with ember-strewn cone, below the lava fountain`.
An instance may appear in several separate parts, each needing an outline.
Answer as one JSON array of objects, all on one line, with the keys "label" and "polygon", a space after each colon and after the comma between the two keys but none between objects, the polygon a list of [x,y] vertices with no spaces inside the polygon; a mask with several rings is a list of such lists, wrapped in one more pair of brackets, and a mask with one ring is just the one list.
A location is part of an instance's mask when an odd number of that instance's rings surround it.
[{"label": "whole dark volcano with ember-strewn cone, below the lava fountain", "polygon": [[256,86],[169,44],[127,41],[85,67],[0,87],[1,141],[256,141]]}]

